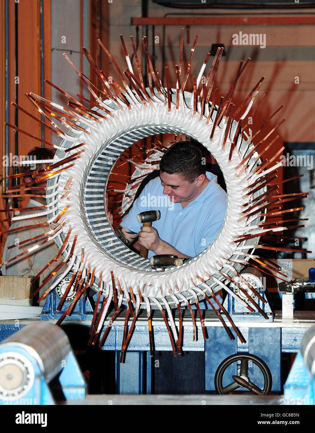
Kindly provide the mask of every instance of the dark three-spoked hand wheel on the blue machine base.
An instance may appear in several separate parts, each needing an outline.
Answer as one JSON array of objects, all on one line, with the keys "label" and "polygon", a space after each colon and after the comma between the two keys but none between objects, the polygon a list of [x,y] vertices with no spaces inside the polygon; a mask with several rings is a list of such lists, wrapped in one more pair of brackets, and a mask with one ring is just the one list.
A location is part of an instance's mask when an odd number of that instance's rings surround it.
[{"label": "dark three-spoked hand wheel on the blue machine base", "polygon": [[[241,361],[241,368],[237,372],[237,376],[232,376],[232,381],[229,385],[223,387],[223,375],[226,368],[229,367],[233,362]],[[258,388],[249,379],[248,375],[248,362],[251,361],[261,370],[264,376],[264,388]],[[258,356],[251,355],[250,353],[235,353],[235,355],[228,356],[224,361],[221,362],[216,370],[216,375],[214,376],[214,386],[218,394],[227,394],[229,392],[235,391],[237,388],[248,388],[255,394],[267,395],[271,391],[272,387],[272,377],[267,364]]]}]

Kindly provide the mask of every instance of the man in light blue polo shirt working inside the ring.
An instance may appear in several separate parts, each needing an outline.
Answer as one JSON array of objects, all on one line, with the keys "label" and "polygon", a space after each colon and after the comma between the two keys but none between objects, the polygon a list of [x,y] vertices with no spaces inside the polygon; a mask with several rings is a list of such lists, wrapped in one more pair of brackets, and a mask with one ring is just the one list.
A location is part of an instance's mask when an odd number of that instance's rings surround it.
[{"label": "man in light blue polo shirt working inside the ring", "polygon": [[[206,172],[204,156],[190,141],[177,142],[161,158],[160,176],[145,187],[115,233],[125,245],[138,237],[150,258],[172,254],[191,258],[203,252],[219,233],[226,213],[226,192]],[[143,227],[137,214],[159,210],[161,217]],[[111,219],[111,215],[109,214]]]}]

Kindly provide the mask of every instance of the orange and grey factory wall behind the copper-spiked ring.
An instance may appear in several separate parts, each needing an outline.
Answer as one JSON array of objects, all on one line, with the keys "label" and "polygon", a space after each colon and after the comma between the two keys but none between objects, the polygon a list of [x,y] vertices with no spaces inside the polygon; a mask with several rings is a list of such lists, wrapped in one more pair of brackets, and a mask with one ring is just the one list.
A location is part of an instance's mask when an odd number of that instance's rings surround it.
[{"label": "orange and grey factory wall behind the copper-spiked ring", "polygon": [[[41,5],[43,28],[41,30]],[[143,7],[146,5],[146,8]],[[6,22],[6,8],[8,10]],[[15,10],[17,11],[18,31],[15,33]],[[297,13],[292,9],[290,13]],[[127,50],[132,55],[129,36],[133,35],[138,45],[138,53],[143,70],[145,69],[145,55],[142,51],[143,36],[147,36],[150,55],[156,68],[163,77],[163,66],[169,66],[170,84],[175,87],[174,65],[178,63],[181,26],[134,26],[132,17],[147,15],[149,17],[173,17],[178,16],[214,16],[226,13],[220,9],[205,9],[200,15],[200,10],[178,10],[162,7],[152,0],[29,0],[3,1],[0,18],[3,24],[0,52],[2,56],[2,68],[0,71],[2,110],[0,110],[0,122],[4,125],[6,114],[6,102],[16,100],[17,103],[40,118],[35,107],[26,99],[24,93],[34,92],[42,94],[47,99],[52,99],[64,105],[65,99],[48,84],[43,84],[43,78],[48,78],[57,86],[64,88],[73,96],[76,93],[89,97],[87,89],[80,83],[79,78],[72,70],[63,56],[65,52],[71,61],[87,76],[95,80],[95,74],[86,58],[80,53],[80,47],[86,46],[98,65],[101,65],[108,75],[120,82],[115,66],[99,47],[97,39],[100,38],[109,51],[118,60],[122,70],[126,68],[123,51],[121,48],[120,34],[123,34]],[[233,12],[231,16],[248,16],[249,14],[262,16],[262,12],[242,10],[242,13]],[[265,10],[265,15],[271,15],[273,10]],[[313,10],[303,9],[303,16],[312,15]],[[300,14],[302,16],[302,13]],[[6,25],[8,23],[8,26]],[[247,70],[242,74],[235,90],[234,102],[241,103],[258,80],[264,75],[265,80],[261,87],[261,94],[269,91],[263,103],[257,110],[253,120],[252,129],[259,129],[266,119],[284,105],[270,121],[275,126],[283,117],[286,118],[277,133],[279,139],[274,146],[280,148],[283,142],[312,142],[314,130],[314,79],[315,66],[314,52],[314,25],[279,25],[268,26],[185,26],[184,41],[184,65],[186,71],[187,61],[195,35],[199,35],[197,47],[194,52],[191,65],[191,76],[187,84],[187,90],[192,88],[192,77],[197,75],[202,62],[210,51],[212,44],[224,44],[226,55],[222,58],[216,79],[216,103],[220,96],[225,95],[235,77],[239,61],[245,61],[248,57],[251,62]],[[6,32],[8,33],[7,43]],[[42,32],[42,35],[41,35]],[[243,33],[258,33],[264,36],[266,46],[233,45],[233,35]],[[17,36],[17,63],[15,62],[15,49]],[[42,36],[42,41],[41,37]],[[42,42],[42,44],[41,44]],[[8,58],[6,60],[6,49]],[[41,62],[43,71],[41,71]],[[8,81],[5,80],[7,66]],[[17,67],[17,68],[16,68]],[[17,72],[16,72],[17,70]],[[16,84],[16,77],[18,84]],[[6,84],[9,91],[6,91]],[[42,88],[44,86],[44,92]],[[5,98],[5,96],[8,96]],[[8,106],[10,113],[9,123],[17,124],[20,129],[45,139],[47,142],[57,144],[58,137],[45,128],[45,135],[41,126],[35,120],[24,113],[16,112],[14,107]],[[45,121],[46,122],[46,121]],[[26,155],[34,145],[40,145],[34,139],[18,132],[18,146],[16,148],[16,132],[8,128],[2,128],[0,158],[5,154],[6,134],[9,134],[9,152],[15,155],[16,149],[20,155]],[[257,138],[262,138],[263,133]],[[271,149],[271,153],[274,153]],[[13,172],[13,168],[9,168]],[[312,171],[308,172],[312,177]],[[5,173],[4,173],[5,174]],[[279,179],[282,174],[280,172]],[[312,197],[313,198],[313,197]],[[3,201],[1,200],[1,207]]]}]

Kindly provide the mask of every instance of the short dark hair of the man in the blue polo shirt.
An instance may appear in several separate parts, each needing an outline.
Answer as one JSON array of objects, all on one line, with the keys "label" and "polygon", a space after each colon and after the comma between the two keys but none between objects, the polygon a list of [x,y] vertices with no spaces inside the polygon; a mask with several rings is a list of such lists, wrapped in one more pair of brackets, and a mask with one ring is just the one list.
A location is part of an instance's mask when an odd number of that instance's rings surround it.
[{"label": "short dark hair of the man in the blue polo shirt", "polygon": [[200,174],[206,174],[203,156],[191,140],[178,141],[162,156],[160,170],[168,174],[179,174],[183,180],[192,184]]}]

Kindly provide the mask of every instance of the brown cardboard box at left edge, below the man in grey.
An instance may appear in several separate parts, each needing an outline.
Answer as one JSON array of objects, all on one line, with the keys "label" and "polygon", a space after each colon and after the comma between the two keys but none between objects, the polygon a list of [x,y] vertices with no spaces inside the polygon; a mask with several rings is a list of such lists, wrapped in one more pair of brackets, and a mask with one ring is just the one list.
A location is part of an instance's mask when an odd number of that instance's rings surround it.
[{"label": "brown cardboard box at left edge, below the man in grey", "polygon": [[0,304],[31,305],[31,278],[0,277]]}]

